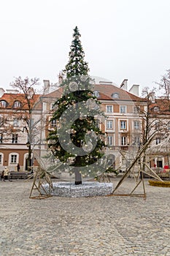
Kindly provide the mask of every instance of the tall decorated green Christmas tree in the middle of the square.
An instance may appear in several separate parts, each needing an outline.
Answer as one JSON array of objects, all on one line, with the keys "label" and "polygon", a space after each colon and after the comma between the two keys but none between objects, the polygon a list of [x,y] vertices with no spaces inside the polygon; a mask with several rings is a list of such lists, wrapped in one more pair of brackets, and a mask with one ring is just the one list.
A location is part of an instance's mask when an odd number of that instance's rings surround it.
[{"label": "tall decorated green Christmas tree in the middle of the square", "polygon": [[57,127],[47,137],[53,155],[63,162],[61,170],[69,166],[70,173],[75,173],[75,184],[82,183],[82,176],[96,176],[101,166],[104,167],[101,164],[105,145],[98,127],[98,116],[101,120],[103,113],[93,97],[93,80],[88,76],[84,58],[76,26],[69,62],[63,70],[63,95],[55,102],[51,119],[57,122]]}]

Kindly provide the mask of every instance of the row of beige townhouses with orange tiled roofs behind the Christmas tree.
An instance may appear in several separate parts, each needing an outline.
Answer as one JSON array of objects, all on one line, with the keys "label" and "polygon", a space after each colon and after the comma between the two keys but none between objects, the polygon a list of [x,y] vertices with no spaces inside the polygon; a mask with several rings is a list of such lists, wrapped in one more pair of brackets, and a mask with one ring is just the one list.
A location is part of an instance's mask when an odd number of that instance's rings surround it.
[{"label": "row of beige townhouses with orange tiled roofs behind the Christmas tree", "polygon": [[[44,93],[33,94],[31,112],[25,95],[16,90],[0,89],[0,170],[8,166],[9,170],[28,170],[28,165],[34,167],[44,165],[49,154],[46,138],[51,129],[57,127],[55,121],[50,121],[56,106],[54,103],[62,95],[58,83],[50,84],[44,80]],[[136,151],[142,144],[144,132],[144,113],[147,99],[139,97],[139,86],[134,85],[127,90],[127,80],[119,87],[108,80],[96,78],[93,95],[101,102],[104,120],[99,118],[98,125],[105,134],[106,154],[113,169],[125,171]],[[156,110],[157,109],[157,110]],[[168,110],[162,109],[161,101],[150,105],[152,122],[165,120],[169,124]],[[151,120],[150,119],[150,120]],[[153,129],[153,128],[152,128]],[[156,132],[152,146],[157,146],[164,138],[163,130]],[[31,162],[28,163],[28,148],[31,148]],[[169,150],[168,150],[169,152]],[[150,151],[147,161],[150,167],[169,165],[169,154],[164,151]],[[151,156],[152,155],[152,156]]]}]

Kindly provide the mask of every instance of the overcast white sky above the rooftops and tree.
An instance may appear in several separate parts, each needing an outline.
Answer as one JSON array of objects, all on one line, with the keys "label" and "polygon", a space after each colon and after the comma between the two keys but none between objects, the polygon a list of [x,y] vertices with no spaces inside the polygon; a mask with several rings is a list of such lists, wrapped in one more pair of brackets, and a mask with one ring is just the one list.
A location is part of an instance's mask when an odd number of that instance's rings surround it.
[{"label": "overcast white sky above the rooftops and tree", "polygon": [[151,88],[170,69],[169,10],[169,0],[1,1],[0,87],[55,83],[78,26],[90,75]]}]

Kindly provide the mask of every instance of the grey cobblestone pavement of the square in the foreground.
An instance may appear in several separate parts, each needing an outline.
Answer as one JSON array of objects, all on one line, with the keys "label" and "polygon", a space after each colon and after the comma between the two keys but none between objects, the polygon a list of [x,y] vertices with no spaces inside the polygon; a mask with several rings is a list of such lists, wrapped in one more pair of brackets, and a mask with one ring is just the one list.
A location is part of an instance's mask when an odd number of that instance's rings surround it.
[{"label": "grey cobblestone pavement of the square in the foreground", "polygon": [[[114,187],[118,179],[113,179]],[[170,255],[170,188],[142,197],[29,199],[32,181],[0,181],[0,255]],[[128,178],[117,192],[134,188]],[[141,193],[142,187],[136,189]]]}]

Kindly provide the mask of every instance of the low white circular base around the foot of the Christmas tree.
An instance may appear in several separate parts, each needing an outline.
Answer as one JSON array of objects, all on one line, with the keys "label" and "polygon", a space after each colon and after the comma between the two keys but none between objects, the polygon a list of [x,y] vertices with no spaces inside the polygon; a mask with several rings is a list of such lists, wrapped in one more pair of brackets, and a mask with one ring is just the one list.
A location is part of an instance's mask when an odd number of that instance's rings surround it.
[{"label": "low white circular base around the foot of the Christmas tree", "polygon": [[94,197],[98,195],[111,195],[113,191],[112,183],[100,183],[84,181],[75,185],[74,182],[53,182],[53,189],[49,184],[44,185],[47,194],[59,197]]}]

